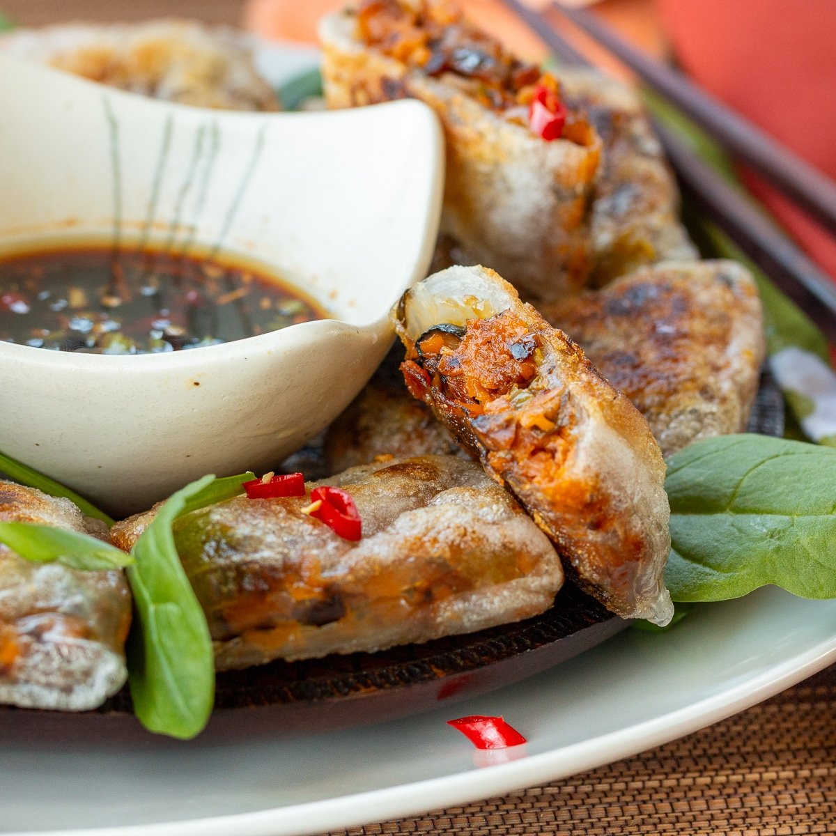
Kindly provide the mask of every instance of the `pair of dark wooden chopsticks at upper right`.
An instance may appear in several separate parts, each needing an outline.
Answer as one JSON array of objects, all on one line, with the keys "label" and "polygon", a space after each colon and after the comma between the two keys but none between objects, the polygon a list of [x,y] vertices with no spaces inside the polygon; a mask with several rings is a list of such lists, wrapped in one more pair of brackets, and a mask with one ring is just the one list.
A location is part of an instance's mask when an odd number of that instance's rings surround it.
[{"label": "pair of dark wooden chopsticks at upper right", "polygon": [[[504,2],[538,33],[559,59],[566,64],[590,66],[589,61],[559,35],[543,15],[519,0]],[[788,196],[796,199],[800,192],[803,198],[799,198],[798,203],[815,212],[816,217],[823,218],[828,228],[836,230],[836,186],[824,175],[799,161],[798,157],[702,93],[696,85],[674,70],[625,44],[593,15],[583,10],[565,8],[558,3],[553,6],[622,59],[650,86],[677,104],[686,115],[729,150],[743,160],[751,161],[764,175],[768,174],[769,179]],[[671,77],[677,80],[671,81]],[[696,101],[700,104],[693,104]],[[827,338],[836,342],[836,284],[673,131],[660,125],[657,120],[654,121],[654,129],[685,190],[813,319]],[[803,174],[796,176],[798,171],[803,171]],[[790,181],[790,188],[786,187],[787,181]]]}]

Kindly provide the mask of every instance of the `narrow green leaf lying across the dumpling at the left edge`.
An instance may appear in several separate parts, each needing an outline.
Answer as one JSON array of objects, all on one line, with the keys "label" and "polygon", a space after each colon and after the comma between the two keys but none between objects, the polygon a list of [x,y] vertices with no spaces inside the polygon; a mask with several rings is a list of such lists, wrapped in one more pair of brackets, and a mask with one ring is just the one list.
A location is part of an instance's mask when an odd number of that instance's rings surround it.
[{"label": "narrow green leaf lying across the dumpling at the left edge", "polygon": [[62,563],[74,569],[114,569],[134,562],[110,543],[36,523],[0,523],[0,543],[34,563]]}]

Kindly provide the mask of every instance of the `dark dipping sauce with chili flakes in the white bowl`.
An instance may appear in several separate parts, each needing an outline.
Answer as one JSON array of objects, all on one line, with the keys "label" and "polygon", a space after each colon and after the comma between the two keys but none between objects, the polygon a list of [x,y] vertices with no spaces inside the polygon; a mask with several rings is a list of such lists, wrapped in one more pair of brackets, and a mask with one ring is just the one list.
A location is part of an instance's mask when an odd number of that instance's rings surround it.
[{"label": "dark dipping sauce with chili flakes in the white bowl", "polygon": [[266,271],[109,247],[0,258],[0,341],[86,354],[158,354],[326,319]]}]

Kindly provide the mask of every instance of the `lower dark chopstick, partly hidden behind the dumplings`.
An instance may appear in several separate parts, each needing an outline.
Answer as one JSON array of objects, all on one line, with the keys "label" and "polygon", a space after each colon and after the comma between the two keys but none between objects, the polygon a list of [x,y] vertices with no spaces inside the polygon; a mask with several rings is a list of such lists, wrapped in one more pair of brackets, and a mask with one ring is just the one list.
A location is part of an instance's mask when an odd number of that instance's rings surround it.
[{"label": "lower dark chopstick, partly hidden behind the dumplings", "polygon": [[[592,66],[540,14],[519,0],[504,2],[528,23],[559,59],[566,64]],[[827,338],[836,342],[836,285],[685,142],[655,120],[653,127],[686,191],[696,197],[711,220],[813,319]]]}]

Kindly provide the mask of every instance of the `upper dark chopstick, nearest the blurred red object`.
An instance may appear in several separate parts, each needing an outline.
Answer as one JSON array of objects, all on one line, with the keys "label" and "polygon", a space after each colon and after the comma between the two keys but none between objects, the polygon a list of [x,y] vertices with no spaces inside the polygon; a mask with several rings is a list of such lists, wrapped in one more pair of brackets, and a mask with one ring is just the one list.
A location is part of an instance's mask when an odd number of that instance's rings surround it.
[{"label": "upper dark chopstick, nearest the blurred red object", "polygon": [[686,76],[624,41],[594,14],[581,8],[568,8],[563,3],[553,3],[553,8],[627,64],[645,83],[676,104],[732,154],[772,181],[798,206],[803,206],[830,232],[836,232],[836,183],[827,175],[707,94]]}]

